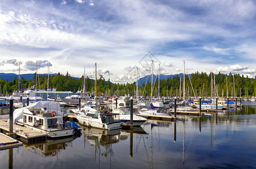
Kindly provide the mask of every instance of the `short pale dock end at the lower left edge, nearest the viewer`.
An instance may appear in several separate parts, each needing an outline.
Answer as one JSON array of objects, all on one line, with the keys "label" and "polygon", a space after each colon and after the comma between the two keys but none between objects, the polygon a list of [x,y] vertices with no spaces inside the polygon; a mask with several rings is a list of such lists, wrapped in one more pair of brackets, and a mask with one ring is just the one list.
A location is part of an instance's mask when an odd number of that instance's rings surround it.
[{"label": "short pale dock end at the lower left edge, nearest the viewer", "polygon": [[16,148],[21,145],[23,145],[23,143],[21,143],[20,141],[12,139],[12,137],[0,133],[0,150]]}]

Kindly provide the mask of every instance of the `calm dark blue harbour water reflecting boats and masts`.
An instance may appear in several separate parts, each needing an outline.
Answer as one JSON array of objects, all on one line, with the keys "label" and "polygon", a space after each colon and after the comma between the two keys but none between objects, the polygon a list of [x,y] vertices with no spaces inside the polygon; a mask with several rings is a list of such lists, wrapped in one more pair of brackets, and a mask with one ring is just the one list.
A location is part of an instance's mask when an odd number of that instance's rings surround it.
[{"label": "calm dark blue harbour water reflecting boats and masts", "polygon": [[256,106],[0,151],[1,168],[256,168]]}]

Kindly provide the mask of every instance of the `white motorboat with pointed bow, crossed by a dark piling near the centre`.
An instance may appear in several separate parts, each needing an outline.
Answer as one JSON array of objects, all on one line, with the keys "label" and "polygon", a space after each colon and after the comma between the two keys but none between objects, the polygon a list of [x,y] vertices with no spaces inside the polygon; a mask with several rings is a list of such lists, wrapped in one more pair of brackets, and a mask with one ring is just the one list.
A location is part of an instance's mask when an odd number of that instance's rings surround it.
[{"label": "white motorboat with pointed bow, crossed by a dark piling near the centre", "polygon": [[[131,111],[129,107],[120,107],[119,109],[112,110],[112,113],[120,114],[120,121],[124,123],[130,123],[131,121]],[[133,114],[133,125],[134,126],[141,126],[147,119],[144,117],[140,117],[136,114]]]}]

